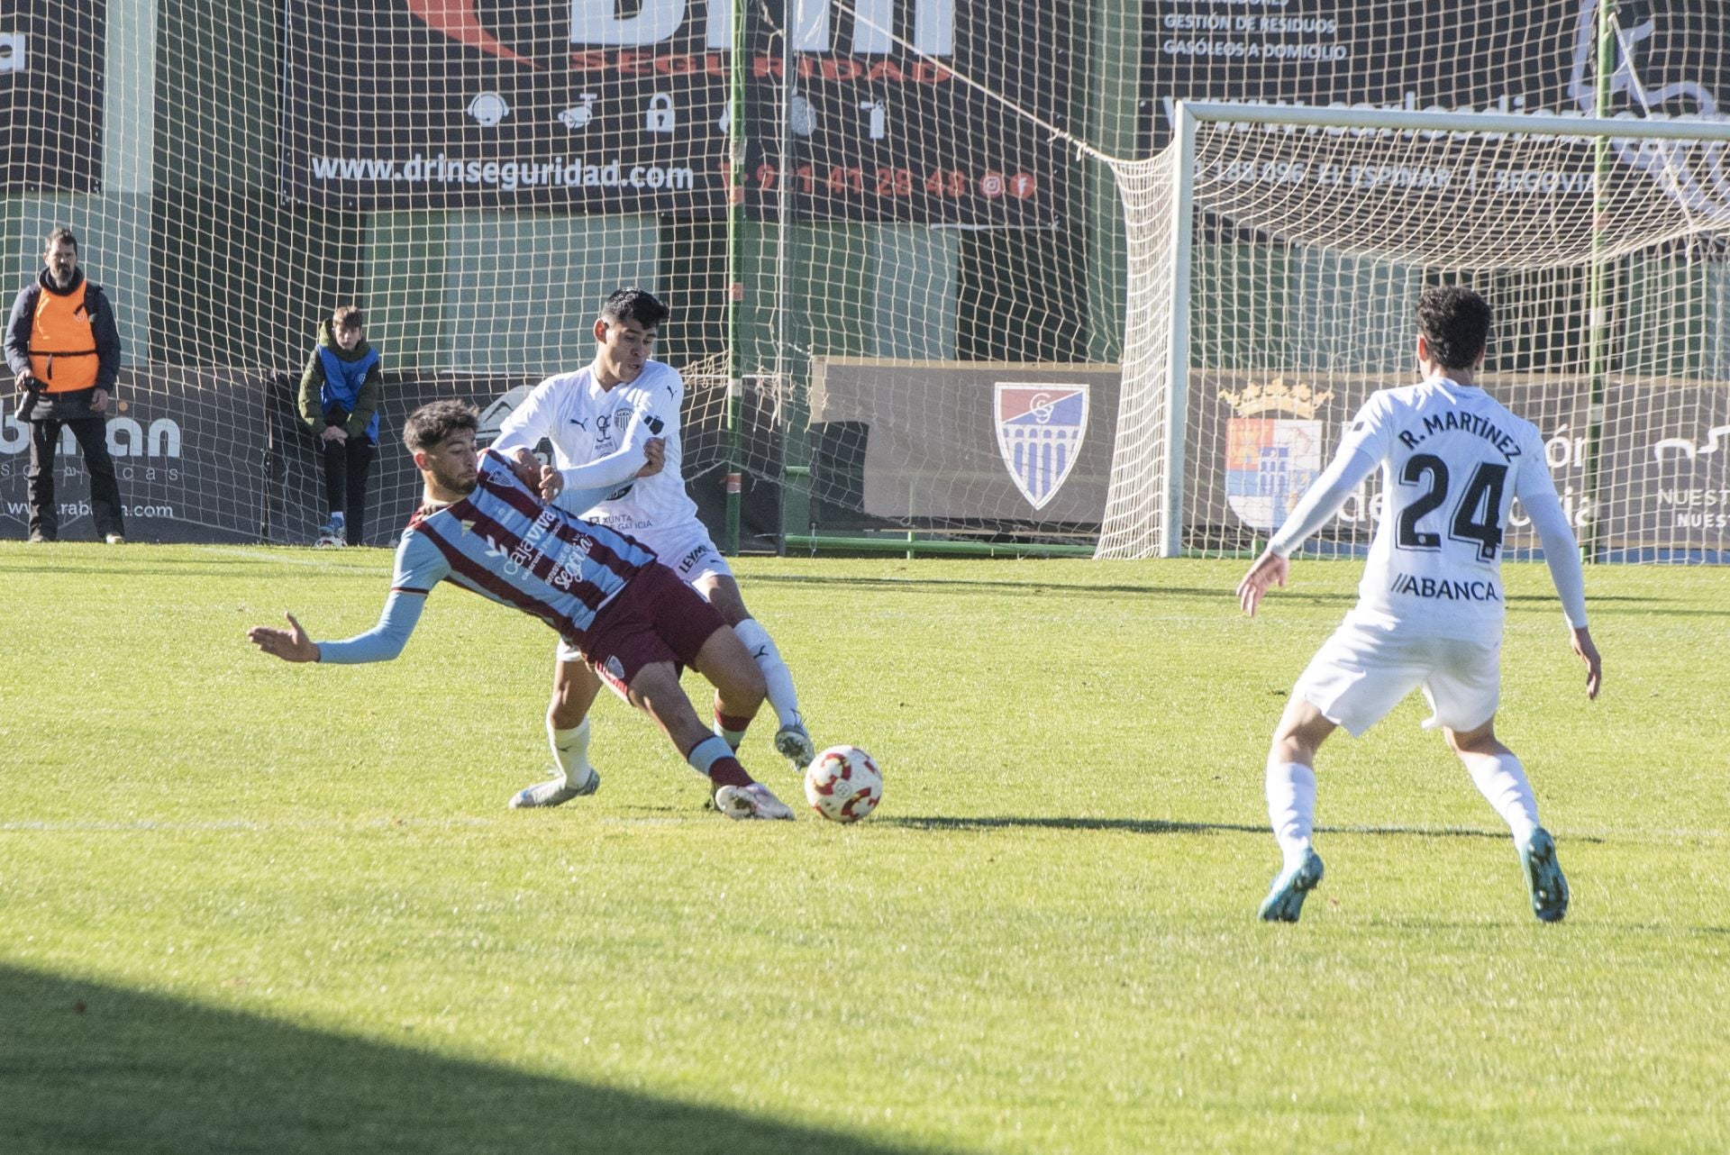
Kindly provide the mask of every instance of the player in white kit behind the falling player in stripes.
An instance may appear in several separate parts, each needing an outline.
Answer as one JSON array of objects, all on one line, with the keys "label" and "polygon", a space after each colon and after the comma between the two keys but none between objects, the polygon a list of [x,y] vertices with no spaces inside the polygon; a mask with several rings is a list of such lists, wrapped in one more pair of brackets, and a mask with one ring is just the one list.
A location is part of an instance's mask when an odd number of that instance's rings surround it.
[{"label": "player in white kit behind the falling player in stripes", "polygon": [[[763,671],[780,724],[775,749],[803,773],[817,749],[799,714],[792,674],[775,640],[746,609],[727,558],[714,548],[697,520],[697,503],[685,493],[678,469],[685,380],[671,365],[649,358],[666,316],[666,306],[642,289],[619,289],[607,297],[595,320],[595,360],[574,373],[540,382],[505,418],[491,448],[531,469],[538,467],[535,448],[541,437],[550,441],[554,465],[543,474],[541,493],[557,496],[564,508],[592,522],[642,541],[720,610]],[[607,469],[621,455],[638,460],[652,441],[664,441],[664,469],[619,486],[586,508],[571,500],[573,489],[597,484],[593,470]],[[561,645],[547,707],[554,776],[519,790],[512,806],[559,806],[583,794],[580,785],[593,769],[588,764],[588,709],[599,692],[600,683],[583,654]],[[742,721],[716,707],[714,731],[737,749],[744,738]]]}]

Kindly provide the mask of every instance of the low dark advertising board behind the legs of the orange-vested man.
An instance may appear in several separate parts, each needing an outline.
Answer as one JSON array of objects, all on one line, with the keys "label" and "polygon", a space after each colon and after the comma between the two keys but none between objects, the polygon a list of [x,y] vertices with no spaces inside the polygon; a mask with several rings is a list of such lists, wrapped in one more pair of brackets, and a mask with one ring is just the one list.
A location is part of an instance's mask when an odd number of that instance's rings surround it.
[{"label": "low dark advertising board behind the legs of the orange-vested man", "polygon": [[[123,368],[107,446],[133,541],[258,541],[265,524],[265,375]],[[54,500],[61,539],[93,539],[90,477],[61,432]],[[0,418],[0,533],[24,536],[29,429]]]}]

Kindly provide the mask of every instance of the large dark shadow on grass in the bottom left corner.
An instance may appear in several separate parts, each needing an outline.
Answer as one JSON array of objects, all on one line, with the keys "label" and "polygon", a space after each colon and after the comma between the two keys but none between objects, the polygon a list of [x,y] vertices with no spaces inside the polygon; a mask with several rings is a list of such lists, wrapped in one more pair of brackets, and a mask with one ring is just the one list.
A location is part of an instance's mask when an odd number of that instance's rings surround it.
[{"label": "large dark shadow on grass in the bottom left corner", "polygon": [[0,967],[5,1152],[913,1148]]}]

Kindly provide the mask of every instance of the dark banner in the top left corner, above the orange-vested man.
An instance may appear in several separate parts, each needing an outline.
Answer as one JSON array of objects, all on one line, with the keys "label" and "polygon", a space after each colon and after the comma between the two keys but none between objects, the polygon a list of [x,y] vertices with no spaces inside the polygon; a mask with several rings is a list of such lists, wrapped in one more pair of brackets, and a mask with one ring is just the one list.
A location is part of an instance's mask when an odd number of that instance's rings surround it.
[{"label": "dark banner in the top left corner, above the orange-vested man", "polygon": [[107,0],[0,9],[0,190],[102,190]]}]

